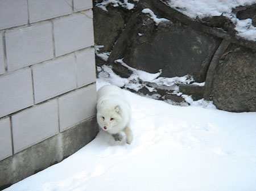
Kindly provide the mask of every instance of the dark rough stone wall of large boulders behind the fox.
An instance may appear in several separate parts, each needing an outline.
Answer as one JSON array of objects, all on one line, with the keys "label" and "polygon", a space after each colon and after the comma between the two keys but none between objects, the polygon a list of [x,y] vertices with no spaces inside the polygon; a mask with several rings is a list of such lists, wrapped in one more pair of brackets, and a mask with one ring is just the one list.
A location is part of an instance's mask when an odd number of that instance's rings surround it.
[{"label": "dark rough stone wall of large boulders behind the fox", "polygon": [[[160,78],[192,75],[195,82],[205,82],[205,86],[177,84],[177,94],[168,87],[143,80],[140,83],[154,87],[158,99],[175,104],[186,103],[181,95],[188,95],[194,100],[213,100],[218,109],[225,111],[256,111],[256,42],[238,37],[231,20],[225,16],[191,19],[168,7],[164,0],[129,2],[134,9],[109,4],[106,11],[94,5],[95,43],[104,45],[98,53],[109,54],[107,60],[96,57],[97,66],[112,66],[122,78],[129,78],[133,71],[120,65],[119,59],[148,73],[162,70]],[[164,22],[158,23],[144,9],[150,9]],[[255,12],[255,5],[233,10],[237,18],[252,18],[254,26]],[[138,92],[154,95],[148,88]]]}]

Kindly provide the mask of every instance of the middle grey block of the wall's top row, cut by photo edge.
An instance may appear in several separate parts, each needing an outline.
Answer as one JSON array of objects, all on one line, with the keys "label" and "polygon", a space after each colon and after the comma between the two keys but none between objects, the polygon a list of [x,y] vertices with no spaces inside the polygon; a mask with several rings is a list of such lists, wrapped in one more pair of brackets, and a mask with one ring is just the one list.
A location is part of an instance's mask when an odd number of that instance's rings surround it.
[{"label": "middle grey block of the wall's top row, cut by photo edge", "polygon": [[72,0],[28,0],[30,23],[72,14]]}]

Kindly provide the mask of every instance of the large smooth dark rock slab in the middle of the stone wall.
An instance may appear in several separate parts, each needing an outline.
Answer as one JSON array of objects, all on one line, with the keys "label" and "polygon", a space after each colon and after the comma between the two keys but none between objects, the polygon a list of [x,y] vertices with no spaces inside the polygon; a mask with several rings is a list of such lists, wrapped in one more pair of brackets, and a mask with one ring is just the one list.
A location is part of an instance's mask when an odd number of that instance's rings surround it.
[{"label": "large smooth dark rock slab in the middle of the stone wall", "polygon": [[190,74],[196,82],[205,81],[210,58],[219,44],[217,38],[181,23],[160,23],[158,30],[144,41],[126,52],[124,61],[128,65],[149,73],[158,73],[161,69],[162,77]]}]

